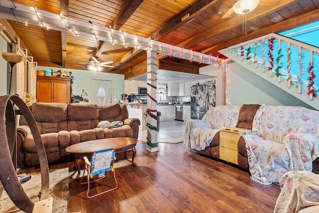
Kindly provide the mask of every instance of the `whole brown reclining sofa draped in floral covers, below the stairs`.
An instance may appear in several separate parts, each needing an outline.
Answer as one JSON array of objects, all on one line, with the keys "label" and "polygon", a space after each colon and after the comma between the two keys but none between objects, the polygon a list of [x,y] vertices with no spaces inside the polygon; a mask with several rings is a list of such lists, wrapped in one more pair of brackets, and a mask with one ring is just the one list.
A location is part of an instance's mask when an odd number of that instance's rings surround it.
[{"label": "whole brown reclining sofa draped in floral covers, below the stairs", "polygon": [[291,170],[312,171],[319,157],[319,112],[299,106],[213,107],[202,120],[186,122],[184,147],[219,158],[219,130],[225,127],[252,130],[239,139],[238,164],[265,185]]}]

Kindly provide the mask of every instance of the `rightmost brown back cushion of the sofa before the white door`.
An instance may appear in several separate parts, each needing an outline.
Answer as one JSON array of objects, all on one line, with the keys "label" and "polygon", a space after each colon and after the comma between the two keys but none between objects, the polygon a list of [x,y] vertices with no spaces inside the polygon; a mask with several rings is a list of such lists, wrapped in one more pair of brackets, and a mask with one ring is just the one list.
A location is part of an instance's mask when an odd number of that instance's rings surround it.
[{"label": "rightmost brown back cushion of the sofa before the white door", "polygon": [[129,112],[125,104],[104,104],[98,106],[99,109],[99,121],[107,120],[123,121],[129,118]]}]

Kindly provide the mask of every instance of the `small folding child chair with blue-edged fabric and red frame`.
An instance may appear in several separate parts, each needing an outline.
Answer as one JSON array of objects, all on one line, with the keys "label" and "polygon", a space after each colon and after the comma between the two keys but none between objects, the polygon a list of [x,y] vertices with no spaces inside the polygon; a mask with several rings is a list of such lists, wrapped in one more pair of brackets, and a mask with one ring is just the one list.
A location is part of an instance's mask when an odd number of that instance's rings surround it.
[{"label": "small folding child chair with blue-edged fabric and red frame", "polygon": [[[85,160],[85,167],[83,172],[83,177],[80,180],[80,184],[87,184],[88,190],[87,190],[87,198],[94,198],[96,196],[108,193],[112,190],[115,190],[118,188],[118,182],[116,181],[115,177],[115,168],[113,166],[115,159],[115,149],[107,149],[102,151],[96,151],[92,154],[91,162],[87,159],[87,157],[83,158]],[[114,181],[116,183],[115,188],[112,188],[110,190],[104,191],[102,193],[98,193],[93,196],[89,196],[90,191],[90,183],[97,182],[103,178],[106,177],[107,172],[112,171],[114,176]],[[87,172],[87,181],[83,182],[84,174]],[[92,180],[94,176],[99,175],[97,180]]]}]

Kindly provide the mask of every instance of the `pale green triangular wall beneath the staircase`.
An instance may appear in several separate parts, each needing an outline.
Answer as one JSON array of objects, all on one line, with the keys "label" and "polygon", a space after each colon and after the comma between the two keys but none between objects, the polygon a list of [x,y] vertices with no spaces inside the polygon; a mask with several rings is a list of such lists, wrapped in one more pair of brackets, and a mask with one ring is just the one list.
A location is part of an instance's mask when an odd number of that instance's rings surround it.
[{"label": "pale green triangular wall beneath the staircase", "polygon": [[237,63],[228,64],[230,102],[232,105],[266,104],[303,106],[314,109]]}]

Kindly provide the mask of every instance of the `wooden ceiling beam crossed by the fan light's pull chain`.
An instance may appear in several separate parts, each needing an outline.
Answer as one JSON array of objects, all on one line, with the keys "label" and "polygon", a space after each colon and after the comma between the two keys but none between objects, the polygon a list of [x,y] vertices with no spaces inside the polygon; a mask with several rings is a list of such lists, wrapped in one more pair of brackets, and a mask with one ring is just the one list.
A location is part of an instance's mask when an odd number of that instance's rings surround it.
[{"label": "wooden ceiling beam crossed by the fan light's pull chain", "polygon": [[[271,5],[271,6],[267,6],[267,7],[263,7],[263,8],[257,8],[255,10],[253,10],[252,12],[247,14],[247,21],[250,20],[254,20],[257,19],[259,17],[265,16],[267,14],[270,14],[274,11],[277,11],[283,7],[287,7],[295,2],[297,2],[298,0],[280,0],[278,3]],[[229,30],[231,28],[235,28],[237,26],[240,26],[243,23],[243,18],[241,15],[236,15],[236,17],[233,18],[229,18],[229,20],[227,20],[225,23],[220,24],[217,27],[212,27],[211,29],[202,32],[190,39],[187,39],[181,43],[179,43],[177,46],[184,46],[185,48],[187,48],[190,45],[194,45],[197,43],[200,43],[202,41],[205,41],[211,37],[213,37],[214,35],[221,33],[223,31]]]}]

